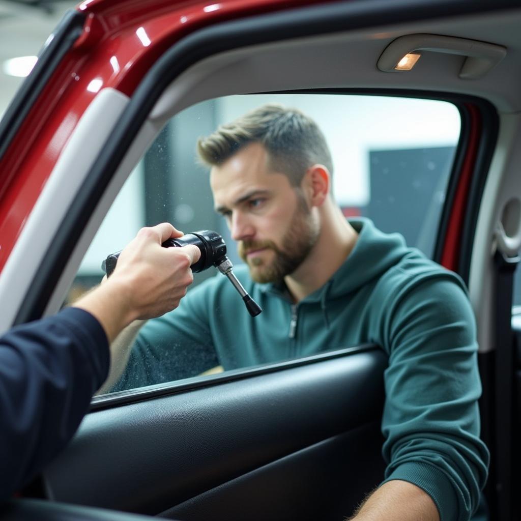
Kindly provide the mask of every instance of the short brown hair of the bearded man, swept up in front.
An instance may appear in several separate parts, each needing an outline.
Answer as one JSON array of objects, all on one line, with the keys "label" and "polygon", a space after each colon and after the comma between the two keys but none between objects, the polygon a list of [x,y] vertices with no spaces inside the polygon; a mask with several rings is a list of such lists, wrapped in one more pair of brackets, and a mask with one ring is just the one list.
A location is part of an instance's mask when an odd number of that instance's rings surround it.
[{"label": "short brown hair of the bearded man, swept up in front", "polygon": [[197,141],[203,163],[217,166],[243,146],[258,142],[268,152],[268,167],[284,173],[293,186],[300,186],[307,168],[324,165],[332,175],[331,153],[315,121],[296,108],[268,104],[221,125]]}]

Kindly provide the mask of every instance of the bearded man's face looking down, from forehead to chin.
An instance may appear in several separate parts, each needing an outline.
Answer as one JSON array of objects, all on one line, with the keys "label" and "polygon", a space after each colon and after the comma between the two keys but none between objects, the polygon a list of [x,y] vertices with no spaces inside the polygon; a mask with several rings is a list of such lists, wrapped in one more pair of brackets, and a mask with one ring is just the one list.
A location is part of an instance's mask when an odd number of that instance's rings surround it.
[{"label": "bearded man's face looking down, from forehead to chin", "polygon": [[319,226],[302,191],[283,173],[269,170],[264,146],[247,145],[213,167],[210,185],[253,280],[279,282],[300,266]]}]

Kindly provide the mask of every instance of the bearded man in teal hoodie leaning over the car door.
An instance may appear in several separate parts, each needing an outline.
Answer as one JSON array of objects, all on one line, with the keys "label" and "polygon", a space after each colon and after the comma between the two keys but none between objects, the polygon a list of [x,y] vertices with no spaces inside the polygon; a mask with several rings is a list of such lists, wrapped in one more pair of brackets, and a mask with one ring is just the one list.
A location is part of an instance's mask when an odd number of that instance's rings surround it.
[{"label": "bearded man in teal hoodie leaning over the car door", "polygon": [[[244,367],[365,342],[389,355],[384,481],[355,519],[468,520],[487,477],[479,439],[475,321],[459,277],[384,234],[346,220],[331,196],[324,136],[298,110],[266,105],[200,140],[217,212],[263,308],[252,318],[224,277],[113,345],[106,389]],[[183,374],[180,356],[190,358]]]}]

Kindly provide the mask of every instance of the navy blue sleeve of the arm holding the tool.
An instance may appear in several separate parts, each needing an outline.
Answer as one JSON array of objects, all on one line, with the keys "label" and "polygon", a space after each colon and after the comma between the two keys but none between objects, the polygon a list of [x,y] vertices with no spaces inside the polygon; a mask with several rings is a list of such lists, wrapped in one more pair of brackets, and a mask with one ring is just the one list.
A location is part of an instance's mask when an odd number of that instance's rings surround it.
[{"label": "navy blue sleeve of the arm holding the tool", "polygon": [[64,309],[0,338],[0,500],[70,440],[108,367],[105,331],[82,309]]}]

